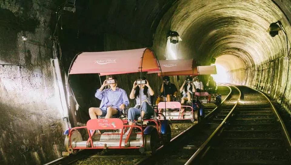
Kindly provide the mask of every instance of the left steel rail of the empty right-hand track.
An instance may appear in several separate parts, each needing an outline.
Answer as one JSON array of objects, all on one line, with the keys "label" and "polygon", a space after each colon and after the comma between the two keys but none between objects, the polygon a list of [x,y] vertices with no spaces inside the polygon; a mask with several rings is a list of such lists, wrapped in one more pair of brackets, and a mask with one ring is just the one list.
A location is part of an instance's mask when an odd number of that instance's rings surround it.
[{"label": "left steel rail of the empty right-hand track", "polygon": [[185,165],[193,164],[194,162],[197,161],[197,159],[200,159],[208,150],[210,143],[214,139],[213,137],[216,136],[219,131],[222,130],[222,126],[224,123],[226,123],[226,120],[228,120],[229,116],[233,113],[234,109],[239,103],[240,97],[241,97],[241,92],[236,86],[232,86],[236,88],[236,90],[239,91],[239,98],[237,99],[236,104],[233,106],[231,111],[228,113],[228,115],[225,117],[225,119],[219,124],[219,126],[216,128],[216,130],[209,136],[209,138],[199,147],[199,149],[192,155],[192,157],[185,163]]}]

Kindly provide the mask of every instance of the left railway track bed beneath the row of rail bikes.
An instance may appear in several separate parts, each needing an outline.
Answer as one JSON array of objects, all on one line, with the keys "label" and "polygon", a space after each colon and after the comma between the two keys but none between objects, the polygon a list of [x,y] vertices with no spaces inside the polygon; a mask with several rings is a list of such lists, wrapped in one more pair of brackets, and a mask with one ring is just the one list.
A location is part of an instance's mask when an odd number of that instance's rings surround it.
[{"label": "left railway track bed beneath the row of rail bikes", "polygon": [[[218,92],[222,94],[222,100],[230,94],[229,87],[219,86]],[[214,103],[205,104],[206,118],[209,120],[213,118],[213,114],[218,111],[218,108]],[[215,120],[215,119],[214,119]],[[196,124],[197,125],[197,124]],[[198,124],[199,125],[199,124]],[[189,136],[192,131],[196,130],[195,124],[193,123],[172,123],[172,137],[171,145],[179,145],[180,141],[184,137]],[[209,132],[209,131],[208,131]],[[211,132],[211,131],[210,131]],[[179,134],[180,133],[180,134]],[[162,154],[164,150],[167,150],[169,146],[161,146],[157,150],[157,155]],[[61,157],[57,160],[49,162],[45,165],[61,165],[61,164],[142,164],[151,159],[152,156],[140,154],[138,150],[82,150],[76,155],[70,155],[69,157]],[[78,162],[77,162],[78,161]],[[74,163],[75,162],[75,163]]]}]

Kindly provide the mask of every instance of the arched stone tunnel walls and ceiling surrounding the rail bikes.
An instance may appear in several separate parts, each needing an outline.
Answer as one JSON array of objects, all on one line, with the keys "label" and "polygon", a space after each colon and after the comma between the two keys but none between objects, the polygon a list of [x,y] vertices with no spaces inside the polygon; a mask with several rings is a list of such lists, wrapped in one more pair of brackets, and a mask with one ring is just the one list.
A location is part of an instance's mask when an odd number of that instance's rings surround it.
[{"label": "arched stone tunnel walls and ceiling surrounding the rail bikes", "polygon": [[[159,60],[216,65],[217,82],[266,93],[291,120],[288,0],[5,0],[0,13],[0,164],[52,161],[64,151],[68,121],[82,126],[89,120],[105,77],[67,79],[80,52],[149,47]],[[271,23],[279,27],[275,36]],[[171,43],[171,31],[182,40]],[[129,93],[138,76],[117,78]],[[160,77],[148,79],[158,91]],[[181,77],[171,79],[181,85]]]}]

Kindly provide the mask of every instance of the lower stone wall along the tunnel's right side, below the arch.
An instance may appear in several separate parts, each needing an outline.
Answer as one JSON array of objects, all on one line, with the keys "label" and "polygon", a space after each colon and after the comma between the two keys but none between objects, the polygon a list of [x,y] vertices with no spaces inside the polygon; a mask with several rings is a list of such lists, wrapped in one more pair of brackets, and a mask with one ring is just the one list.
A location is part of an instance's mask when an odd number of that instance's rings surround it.
[{"label": "lower stone wall along the tunnel's right side, below the arch", "polygon": [[[291,115],[291,72],[288,72],[288,67],[289,71],[291,69],[290,56],[286,58],[285,54],[284,52],[278,53],[273,59],[259,65],[231,70],[229,78],[232,83],[251,86],[262,91],[276,99],[278,103],[282,101],[283,107]],[[241,77],[246,77],[246,79]]]}]

